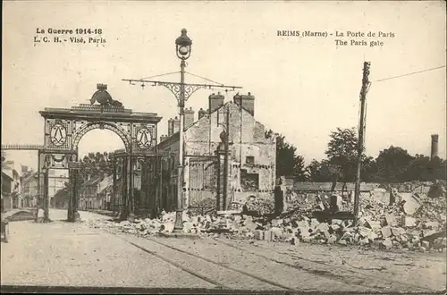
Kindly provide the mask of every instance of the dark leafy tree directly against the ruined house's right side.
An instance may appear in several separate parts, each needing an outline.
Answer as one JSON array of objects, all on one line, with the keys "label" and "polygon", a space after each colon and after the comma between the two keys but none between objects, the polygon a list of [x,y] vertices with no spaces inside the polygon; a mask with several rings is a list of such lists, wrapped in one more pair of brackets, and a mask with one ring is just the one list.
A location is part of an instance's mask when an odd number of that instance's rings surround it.
[{"label": "dark leafy tree directly against the ruined house's right side", "polygon": [[[266,139],[271,138],[274,131],[266,131]],[[306,180],[306,165],[302,156],[296,155],[297,147],[285,141],[283,135],[276,137],[276,175],[293,175],[298,181]]]}]

